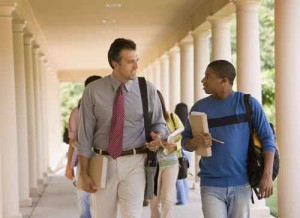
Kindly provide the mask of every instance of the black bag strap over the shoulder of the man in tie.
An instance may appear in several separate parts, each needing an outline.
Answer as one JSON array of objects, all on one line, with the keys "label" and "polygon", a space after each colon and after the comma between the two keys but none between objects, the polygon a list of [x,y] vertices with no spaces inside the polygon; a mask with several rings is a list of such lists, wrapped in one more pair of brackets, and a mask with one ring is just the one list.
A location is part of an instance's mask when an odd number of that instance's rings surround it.
[{"label": "black bag strap over the shoulder of the man in tie", "polygon": [[[144,115],[144,126],[145,126],[145,138],[147,142],[151,141],[151,121],[148,111],[148,92],[147,92],[147,83],[144,77],[139,77],[139,86],[143,104],[143,115]],[[156,153],[147,149],[148,156],[148,166],[156,166]]]}]

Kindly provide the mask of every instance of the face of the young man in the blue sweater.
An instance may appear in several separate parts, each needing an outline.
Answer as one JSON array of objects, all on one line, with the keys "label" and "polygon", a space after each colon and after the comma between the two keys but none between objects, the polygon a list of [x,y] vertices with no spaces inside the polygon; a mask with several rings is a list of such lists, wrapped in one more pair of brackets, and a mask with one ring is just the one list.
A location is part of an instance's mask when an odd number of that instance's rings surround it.
[{"label": "face of the young man in the blue sweater", "polygon": [[206,68],[205,77],[201,80],[206,94],[216,94],[222,88],[222,78],[218,77],[212,68]]}]

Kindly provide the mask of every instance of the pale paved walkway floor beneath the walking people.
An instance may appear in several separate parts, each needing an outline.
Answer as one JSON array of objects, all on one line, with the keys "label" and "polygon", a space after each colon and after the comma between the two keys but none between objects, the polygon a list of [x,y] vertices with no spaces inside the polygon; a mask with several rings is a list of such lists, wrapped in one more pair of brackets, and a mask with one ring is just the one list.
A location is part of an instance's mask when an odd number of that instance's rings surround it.
[{"label": "pale paved walkway floor beneath the walking people", "polygon": [[[21,208],[23,218],[77,218],[76,190],[62,173],[50,175],[43,192],[33,198],[33,207]],[[175,218],[203,218],[199,190],[191,190],[187,205],[174,206]],[[150,209],[143,208],[142,218],[150,217]]]}]

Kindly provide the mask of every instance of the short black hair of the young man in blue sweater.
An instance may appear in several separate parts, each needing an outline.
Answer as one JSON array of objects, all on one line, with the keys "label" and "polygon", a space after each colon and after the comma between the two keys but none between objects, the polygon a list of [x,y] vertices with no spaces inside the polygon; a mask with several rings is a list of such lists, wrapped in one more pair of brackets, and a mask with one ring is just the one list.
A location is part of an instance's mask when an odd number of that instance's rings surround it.
[{"label": "short black hair of the young man in blue sweater", "polygon": [[216,60],[211,62],[207,67],[214,70],[214,73],[220,77],[226,77],[229,80],[229,83],[233,85],[236,73],[234,66],[226,60]]}]

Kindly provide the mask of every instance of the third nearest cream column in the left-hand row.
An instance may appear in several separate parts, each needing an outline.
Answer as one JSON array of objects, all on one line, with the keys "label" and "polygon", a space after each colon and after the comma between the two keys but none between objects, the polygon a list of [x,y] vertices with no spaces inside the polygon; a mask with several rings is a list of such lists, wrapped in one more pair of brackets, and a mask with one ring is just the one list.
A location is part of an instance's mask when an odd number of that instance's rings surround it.
[{"label": "third nearest cream column in the left-hand row", "polygon": [[30,194],[36,195],[37,186],[37,160],[36,160],[36,126],[35,126],[35,99],[33,82],[33,58],[32,58],[33,35],[24,35],[25,72],[26,72],[26,99],[27,99],[27,125],[28,125],[28,148],[29,148],[29,186]]}]

